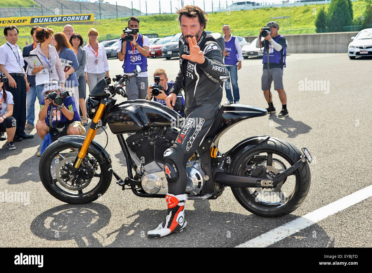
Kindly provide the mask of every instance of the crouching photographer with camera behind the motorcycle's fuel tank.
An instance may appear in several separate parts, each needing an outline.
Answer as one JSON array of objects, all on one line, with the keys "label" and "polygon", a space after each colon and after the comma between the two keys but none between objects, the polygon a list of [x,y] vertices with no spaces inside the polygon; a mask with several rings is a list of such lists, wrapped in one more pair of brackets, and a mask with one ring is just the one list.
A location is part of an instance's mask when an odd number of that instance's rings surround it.
[{"label": "crouching photographer with camera behind the motorcycle's fuel tank", "polygon": [[[154,83],[147,88],[147,100],[154,97],[154,101],[167,105],[165,99],[169,95],[170,88],[173,86],[173,81],[168,81],[167,74],[163,69],[156,69],[154,72]],[[185,100],[181,92],[177,95],[174,110],[177,111],[182,117],[184,112]]]}]

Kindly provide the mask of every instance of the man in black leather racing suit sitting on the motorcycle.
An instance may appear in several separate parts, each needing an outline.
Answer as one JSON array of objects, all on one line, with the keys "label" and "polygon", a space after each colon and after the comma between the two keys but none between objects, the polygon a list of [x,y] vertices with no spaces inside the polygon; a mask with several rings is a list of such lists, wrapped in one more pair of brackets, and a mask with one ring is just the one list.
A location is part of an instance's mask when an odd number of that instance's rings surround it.
[{"label": "man in black leather racing suit sitting on the motorcycle", "polygon": [[186,120],[176,142],[164,152],[164,172],[168,182],[165,220],[148,237],[158,238],[186,227],[185,194],[186,163],[195,153],[211,128],[222,100],[222,84],[228,78],[223,49],[205,29],[207,14],[197,6],[185,6],[177,11],[182,36],[179,40],[180,71],[166,98],[174,106],[177,94],[185,92]]}]

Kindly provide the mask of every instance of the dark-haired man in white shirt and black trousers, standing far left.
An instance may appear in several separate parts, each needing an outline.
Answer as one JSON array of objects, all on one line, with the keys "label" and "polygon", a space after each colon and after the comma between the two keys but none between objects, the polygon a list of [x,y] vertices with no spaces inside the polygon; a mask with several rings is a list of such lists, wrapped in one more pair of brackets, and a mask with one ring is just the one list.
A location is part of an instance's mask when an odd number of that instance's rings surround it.
[{"label": "dark-haired man in white shirt and black trousers, standing far left", "polygon": [[30,87],[23,66],[22,52],[16,44],[18,41],[18,28],[14,25],[4,28],[4,36],[7,40],[0,46],[0,71],[5,74],[8,81],[5,89],[12,93],[14,100],[13,117],[17,121],[16,134],[13,141],[32,139],[33,135],[25,133],[26,124],[26,101]]}]

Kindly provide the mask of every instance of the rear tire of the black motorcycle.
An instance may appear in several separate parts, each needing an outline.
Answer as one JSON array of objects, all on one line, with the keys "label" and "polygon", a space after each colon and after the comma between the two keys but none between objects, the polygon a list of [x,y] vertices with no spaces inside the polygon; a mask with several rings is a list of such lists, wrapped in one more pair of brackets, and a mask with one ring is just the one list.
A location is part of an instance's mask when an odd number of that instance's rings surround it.
[{"label": "rear tire of the black motorcycle", "polygon": [[[236,160],[233,160],[232,174],[241,176],[242,166],[245,167],[245,163],[254,155],[265,152],[280,155],[291,165],[297,162],[301,156],[301,152],[291,143],[282,139],[270,137],[270,139],[267,141],[254,146],[253,148],[244,152]],[[289,166],[287,166],[287,168],[288,167]],[[286,202],[286,204],[279,205],[278,207],[271,208],[270,206],[265,206],[262,202],[256,202],[256,199],[249,195],[250,192],[248,188],[231,187],[231,191],[237,201],[244,208],[256,215],[263,217],[284,216],[291,213],[302,204],[310,189],[311,175],[307,162],[303,163],[297,170],[295,170],[294,175],[296,178],[294,194],[291,195],[291,198]]]}]

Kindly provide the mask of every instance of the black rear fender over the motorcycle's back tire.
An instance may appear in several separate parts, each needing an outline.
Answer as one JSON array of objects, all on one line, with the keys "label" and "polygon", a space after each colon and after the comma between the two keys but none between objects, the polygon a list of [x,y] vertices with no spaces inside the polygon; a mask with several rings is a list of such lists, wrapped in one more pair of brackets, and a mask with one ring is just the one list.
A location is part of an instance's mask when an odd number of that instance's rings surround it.
[{"label": "black rear fender over the motorcycle's back tire", "polygon": [[224,161],[227,163],[227,165],[225,165],[225,168],[222,169],[230,173],[231,167],[234,166],[233,160],[236,160],[241,155],[243,155],[243,153],[247,152],[247,150],[251,149],[254,146],[257,146],[258,144],[266,141],[269,138],[270,136],[253,136],[242,140],[234,147],[232,147],[227,153],[225,153]]}]

